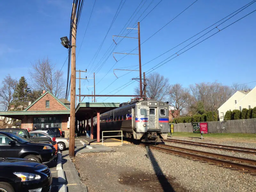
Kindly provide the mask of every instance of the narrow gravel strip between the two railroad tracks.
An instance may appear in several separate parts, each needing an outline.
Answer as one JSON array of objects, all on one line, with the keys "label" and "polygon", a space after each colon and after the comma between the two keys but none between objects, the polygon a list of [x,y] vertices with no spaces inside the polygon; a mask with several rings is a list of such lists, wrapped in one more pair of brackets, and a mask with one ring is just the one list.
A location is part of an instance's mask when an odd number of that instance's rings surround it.
[{"label": "narrow gravel strip between the two railroad tracks", "polygon": [[197,146],[178,144],[178,143],[172,143],[172,142],[165,142],[165,144],[175,146],[175,147],[182,147],[182,148],[194,149],[194,150],[198,150],[198,151],[218,153],[221,155],[229,155],[229,156],[242,157],[242,158],[256,160],[255,154],[237,153],[237,152],[233,152],[233,151],[220,150],[220,149],[215,149],[215,148],[197,147]]}]

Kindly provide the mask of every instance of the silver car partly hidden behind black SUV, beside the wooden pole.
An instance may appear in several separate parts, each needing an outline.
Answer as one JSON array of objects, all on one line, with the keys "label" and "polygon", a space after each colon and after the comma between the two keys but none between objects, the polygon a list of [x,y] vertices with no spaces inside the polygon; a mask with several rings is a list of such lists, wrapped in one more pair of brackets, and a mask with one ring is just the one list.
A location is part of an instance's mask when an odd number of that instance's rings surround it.
[{"label": "silver car partly hidden behind black SUV, beside the wooden pole", "polygon": [[[51,135],[46,133],[47,131],[31,131],[29,132],[30,137],[33,135],[34,137],[48,137],[53,138]],[[64,137],[55,137],[56,142],[58,143],[58,149],[60,151],[64,151],[66,148],[69,148],[69,139]]]}]

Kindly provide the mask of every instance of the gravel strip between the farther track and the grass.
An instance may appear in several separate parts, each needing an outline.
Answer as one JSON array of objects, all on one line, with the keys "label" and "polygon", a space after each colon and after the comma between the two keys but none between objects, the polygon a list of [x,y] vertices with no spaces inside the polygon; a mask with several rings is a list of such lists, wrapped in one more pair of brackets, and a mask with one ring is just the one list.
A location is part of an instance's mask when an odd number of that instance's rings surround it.
[{"label": "gravel strip between the farther track and the grass", "polygon": [[219,145],[230,145],[230,146],[236,146],[236,147],[246,147],[246,148],[255,148],[256,149],[256,143],[255,142],[239,142],[234,140],[220,140],[218,138],[204,138],[201,140],[197,137],[168,137],[167,139],[176,139],[176,140],[187,140],[187,141],[196,141],[196,142],[202,142],[202,143],[212,143],[212,144],[219,144]]}]

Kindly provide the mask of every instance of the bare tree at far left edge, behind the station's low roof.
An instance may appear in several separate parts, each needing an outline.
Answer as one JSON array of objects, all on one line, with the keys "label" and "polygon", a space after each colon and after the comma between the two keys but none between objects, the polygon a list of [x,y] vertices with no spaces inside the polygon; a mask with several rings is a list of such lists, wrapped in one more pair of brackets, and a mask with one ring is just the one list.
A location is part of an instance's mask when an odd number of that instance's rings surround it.
[{"label": "bare tree at far left edge, behind the station's low roof", "polygon": [[[13,93],[15,92],[16,85],[16,79],[12,79],[10,75],[5,76],[4,80],[2,81],[2,87],[0,88],[1,110],[9,111],[11,109],[11,104],[14,100]],[[0,117],[0,120],[2,120],[0,128],[11,127],[12,123],[15,121],[7,117]]]}]

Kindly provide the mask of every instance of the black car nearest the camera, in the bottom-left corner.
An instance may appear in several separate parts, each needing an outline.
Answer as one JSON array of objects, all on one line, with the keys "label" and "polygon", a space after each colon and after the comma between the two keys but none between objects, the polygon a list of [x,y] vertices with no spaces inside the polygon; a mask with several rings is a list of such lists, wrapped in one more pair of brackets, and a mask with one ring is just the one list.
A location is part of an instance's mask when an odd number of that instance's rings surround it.
[{"label": "black car nearest the camera, in the bottom-left corner", "polygon": [[25,159],[0,158],[0,191],[50,192],[52,174],[50,169]]}]

